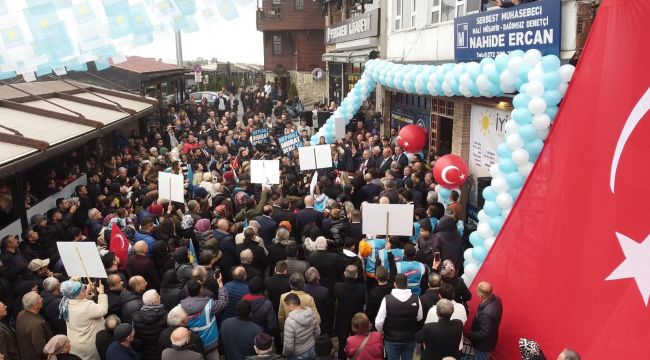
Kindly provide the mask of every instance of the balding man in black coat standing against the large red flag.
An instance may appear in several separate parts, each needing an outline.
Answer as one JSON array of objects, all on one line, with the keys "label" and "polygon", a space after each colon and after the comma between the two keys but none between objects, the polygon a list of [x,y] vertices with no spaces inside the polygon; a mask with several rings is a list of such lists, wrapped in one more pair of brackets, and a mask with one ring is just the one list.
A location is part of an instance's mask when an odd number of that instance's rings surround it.
[{"label": "balding man in black coat standing against the large red flag", "polygon": [[480,282],[476,294],[481,299],[481,304],[476,310],[472,330],[467,337],[474,346],[476,359],[489,359],[490,352],[497,346],[503,305],[501,299],[492,294],[492,285],[488,282]]}]

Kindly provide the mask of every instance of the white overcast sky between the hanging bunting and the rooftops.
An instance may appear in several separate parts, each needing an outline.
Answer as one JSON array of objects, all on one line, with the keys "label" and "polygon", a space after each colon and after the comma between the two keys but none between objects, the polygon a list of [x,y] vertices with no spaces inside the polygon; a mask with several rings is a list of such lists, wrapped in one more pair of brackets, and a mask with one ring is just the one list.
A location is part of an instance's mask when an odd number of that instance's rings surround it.
[{"label": "white overcast sky between the hanging bunting and the rooftops", "polygon": [[[242,2],[244,3],[244,2]],[[255,2],[237,7],[239,17],[226,21],[217,16],[214,25],[194,33],[183,33],[183,60],[217,58],[218,61],[264,63],[262,32],[255,24]],[[176,63],[174,37],[156,38],[154,43],[132,50],[128,55],[162,58]]]}]

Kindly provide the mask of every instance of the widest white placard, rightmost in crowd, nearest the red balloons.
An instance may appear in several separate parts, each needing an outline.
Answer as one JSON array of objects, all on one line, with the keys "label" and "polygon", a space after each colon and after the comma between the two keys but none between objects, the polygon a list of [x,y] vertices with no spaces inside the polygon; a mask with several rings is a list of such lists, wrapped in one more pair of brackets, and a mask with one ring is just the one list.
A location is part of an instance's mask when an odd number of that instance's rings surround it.
[{"label": "widest white placard, rightmost in crowd, nearest the red balloons", "polygon": [[[371,204],[361,205],[363,220],[361,232],[371,235],[413,235],[413,205]],[[386,223],[388,222],[388,227]],[[388,230],[388,234],[386,234]]]}]

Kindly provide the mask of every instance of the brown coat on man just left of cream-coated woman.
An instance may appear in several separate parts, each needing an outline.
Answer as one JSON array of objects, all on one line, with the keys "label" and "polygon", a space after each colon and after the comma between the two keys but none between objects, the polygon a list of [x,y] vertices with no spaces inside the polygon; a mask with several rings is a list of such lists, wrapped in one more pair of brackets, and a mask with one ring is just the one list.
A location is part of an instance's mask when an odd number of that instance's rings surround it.
[{"label": "brown coat on man just left of cream-coated woman", "polygon": [[46,359],[45,344],[52,338],[52,330],[40,315],[27,310],[16,317],[16,339],[22,359]]}]

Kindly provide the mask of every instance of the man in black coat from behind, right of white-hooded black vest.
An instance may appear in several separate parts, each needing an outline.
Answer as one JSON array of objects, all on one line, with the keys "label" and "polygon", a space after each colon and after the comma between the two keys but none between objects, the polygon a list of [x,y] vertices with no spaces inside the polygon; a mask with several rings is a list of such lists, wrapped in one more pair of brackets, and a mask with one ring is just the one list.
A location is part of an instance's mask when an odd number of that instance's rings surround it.
[{"label": "man in black coat from behind, right of white-hooded black vest", "polygon": [[422,342],[422,360],[441,360],[446,356],[459,358],[458,344],[463,336],[463,322],[451,320],[454,305],[447,299],[436,304],[438,322],[424,324],[415,333],[415,340]]}]

